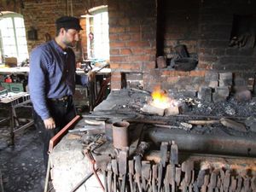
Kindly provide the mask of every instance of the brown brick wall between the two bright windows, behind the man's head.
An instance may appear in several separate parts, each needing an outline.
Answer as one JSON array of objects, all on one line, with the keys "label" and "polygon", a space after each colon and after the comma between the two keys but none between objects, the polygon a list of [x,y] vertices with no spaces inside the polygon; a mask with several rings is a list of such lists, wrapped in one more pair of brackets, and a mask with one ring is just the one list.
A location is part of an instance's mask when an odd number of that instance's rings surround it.
[{"label": "brown brick wall between the two bright windows, behind the man's head", "polygon": [[[86,27],[85,19],[80,15],[84,15],[86,9],[92,7],[106,5],[107,1],[97,0],[95,2],[86,3],[86,1],[73,0],[72,5],[67,1],[33,1],[25,0],[24,9],[21,9],[21,14],[24,16],[26,32],[33,26],[38,30],[38,40],[27,40],[28,51],[30,52],[34,47],[45,42],[45,34],[49,33],[51,38],[55,38],[55,20],[64,15],[76,16],[80,19],[81,26],[84,30],[80,32],[81,43],[84,51],[84,55],[87,55],[86,47]],[[80,53],[81,55],[82,53]]]}]

